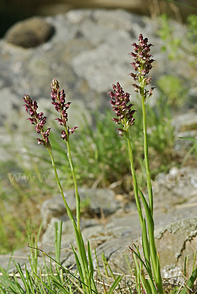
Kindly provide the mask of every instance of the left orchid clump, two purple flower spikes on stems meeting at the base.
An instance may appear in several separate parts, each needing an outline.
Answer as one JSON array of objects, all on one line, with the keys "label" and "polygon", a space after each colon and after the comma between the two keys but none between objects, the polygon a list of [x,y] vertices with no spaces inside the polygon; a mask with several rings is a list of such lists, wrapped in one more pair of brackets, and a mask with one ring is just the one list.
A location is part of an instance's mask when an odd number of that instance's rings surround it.
[{"label": "left orchid clump, two purple flower spikes on stems meeting at the base", "polygon": [[68,151],[67,156],[68,156],[68,160],[69,160],[72,174],[73,174],[75,197],[76,197],[76,221],[75,221],[74,215],[73,215],[73,213],[72,213],[72,211],[66,201],[66,198],[64,196],[62,185],[60,183],[58,173],[56,170],[55,161],[54,161],[54,158],[52,155],[52,149],[51,149],[51,145],[49,142],[50,128],[48,128],[46,131],[44,130],[44,125],[46,123],[47,118],[44,117],[44,114],[42,112],[40,112],[40,113],[37,112],[37,109],[38,109],[37,102],[32,101],[32,99],[28,95],[25,95],[25,97],[23,98],[23,100],[25,102],[24,106],[25,106],[26,112],[30,115],[30,118],[28,118],[27,120],[30,121],[30,123],[35,124],[35,129],[36,129],[37,133],[42,136],[42,139],[37,138],[38,144],[46,147],[49,152],[51,164],[52,164],[53,171],[55,174],[55,179],[56,179],[57,185],[59,187],[59,192],[60,192],[62,199],[64,201],[67,214],[73,223],[77,251],[75,250],[73,245],[72,245],[72,249],[74,252],[78,272],[80,275],[80,280],[81,280],[83,292],[84,293],[92,293],[92,292],[97,293],[97,288],[96,288],[95,281],[94,281],[94,270],[93,270],[91,246],[90,246],[90,243],[88,242],[88,257],[87,257],[85,245],[84,245],[83,238],[81,235],[81,230],[80,230],[80,198],[78,195],[76,176],[75,176],[75,172],[74,172],[74,165],[73,165],[73,161],[72,161],[71,149],[70,149],[70,144],[69,144],[69,137],[71,134],[74,133],[74,130],[77,127],[74,126],[73,128],[70,128],[67,125],[67,122],[68,122],[67,110],[68,110],[71,102],[66,102],[65,92],[63,89],[61,91],[59,90],[59,83],[56,79],[54,79],[51,83],[51,98],[52,98],[51,103],[55,107],[56,111],[60,114],[60,118],[56,118],[55,120],[57,120],[58,123],[64,127],[64,130],[61,131],[61,138],[65,141],[65,143],[67,145],[67,151]]}]

